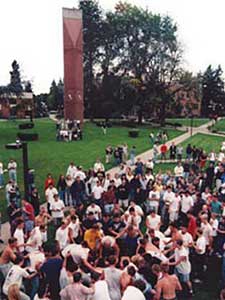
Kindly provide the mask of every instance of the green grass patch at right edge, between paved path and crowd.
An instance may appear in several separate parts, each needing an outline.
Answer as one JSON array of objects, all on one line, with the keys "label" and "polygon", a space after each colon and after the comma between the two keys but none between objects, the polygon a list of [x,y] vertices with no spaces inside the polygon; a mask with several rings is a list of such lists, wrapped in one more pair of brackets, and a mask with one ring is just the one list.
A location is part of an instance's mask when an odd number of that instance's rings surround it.
[{"label": "green grass patch at right edge, between paved path and crowd", "polygon": [[205,150],[207,153],[211,152],[212,150],[215,150],[217,153],[219,152],[221,148],[221,143],[225,140],[225,137],[220,136],[212,136],[207,134],[201,134],[198,133],[186,141],[182,143],[182,146],[184,149],[187,147],[187,145],[190,143],[192,146],[201,147],[203,150]]}]

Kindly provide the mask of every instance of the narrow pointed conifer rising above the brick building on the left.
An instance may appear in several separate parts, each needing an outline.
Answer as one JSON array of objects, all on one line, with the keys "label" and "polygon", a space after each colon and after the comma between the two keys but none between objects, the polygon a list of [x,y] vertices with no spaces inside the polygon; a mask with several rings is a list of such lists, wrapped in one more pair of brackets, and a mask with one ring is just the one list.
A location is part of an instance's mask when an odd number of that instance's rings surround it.
[{"label": "narrow pointed conifer rising above the brick building on the left", "polygon": [[12,71],[10,71],[10,84],[9,91],[15,93],[17,96],[23,92],[23,86],[21,82],[20,66],[16,60],[12,63]]}]

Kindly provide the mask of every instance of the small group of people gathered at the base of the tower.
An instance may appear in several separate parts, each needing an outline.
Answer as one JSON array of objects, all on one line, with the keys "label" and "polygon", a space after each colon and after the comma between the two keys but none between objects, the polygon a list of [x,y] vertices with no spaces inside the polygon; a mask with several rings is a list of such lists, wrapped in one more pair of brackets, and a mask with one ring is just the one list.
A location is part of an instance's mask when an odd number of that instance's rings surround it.
[{"label": "small group of people gathered at the base of the tower", "polygon": [[56,122],[56,140],[57,141],[77,141],[82,140],[82,129],[80,120],[58,120]]}]

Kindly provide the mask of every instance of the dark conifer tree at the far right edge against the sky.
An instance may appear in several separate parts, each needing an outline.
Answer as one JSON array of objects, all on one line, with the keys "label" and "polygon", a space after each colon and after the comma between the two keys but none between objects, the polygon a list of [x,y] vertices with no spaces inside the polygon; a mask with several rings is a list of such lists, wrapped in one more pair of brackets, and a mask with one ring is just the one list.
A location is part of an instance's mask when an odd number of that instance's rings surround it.
[{"label": "dark conifer tree at the far right edge against the sky", "polygon": [[214,113],[220,113],[224,108],[224,81],[221,66],[213,69],[208,66],[202,75],[202,106],[201,114],[208,117]]}]

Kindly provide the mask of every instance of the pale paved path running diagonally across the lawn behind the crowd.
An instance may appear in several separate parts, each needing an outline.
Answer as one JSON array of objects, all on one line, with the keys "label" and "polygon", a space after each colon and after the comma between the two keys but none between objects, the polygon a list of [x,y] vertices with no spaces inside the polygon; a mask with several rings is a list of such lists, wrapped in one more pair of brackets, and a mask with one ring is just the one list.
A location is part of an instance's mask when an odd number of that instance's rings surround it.
[{"label": "pale paved path running diagonally across the lawn behind the crowd", "polygon": [[[52,119],[54,120],[54,118],[52,118]],[[214,134],[214,133],[212,133],[212,132],[210,132],[208,130],[208,126],[210,126],[212,124],[213,124],[213,121],[210,121],[210,122],[208,122],[208,123],[206,123],[204,125],[201,125],[199,127],[193,127],[192,128],[192,135],[195,135],[197,133],[203,133],[203,134],[210,134],[210,135],[214,135],[214,136],[221,136],[219,134]],[[169,147],[172,144],[172,142],[174,142],[176,145],[184,142],[185,140],[187,140],[188,138],[190,138],[190,133],[191,133],[190,130],[191,129],[188,128],[188,131],[186,133],[184,133],[184,134],[182,134],[182,135],[180,135],[180,136],[178,136],[178,137],[176,137],[176,138],[168,141],[166,143],[166,145]],[[149,158],[152,158],[152,157],[153,157],[153,150],[151,149],[151,150],[148,150],[148,151],[146,151],[146,152],[144,152],[144,153],[142,153],[140,155],[137,155],[136,159],[137,158],[141,158],[141,160],[143,162],[146,162]],[[130,161],[128,161],[127,164],[129,165]],[[114,174],[117,173],[118,171],[119,171],[119,167],[115,167],[115,168],[110,169],[107,173],[110,173],[112,176],[114,176]],[[1,232],[2,232],[2,237],[1,238],[6,242],[8,240],[8,238],[9,238],[9,232],[10,232],[10,230],[9,230],[9,223],[8,222],[2,224],[2,230],[1,230]],[[1,251],[2,247],[3,246],[0,245],[0,251]]]}]

